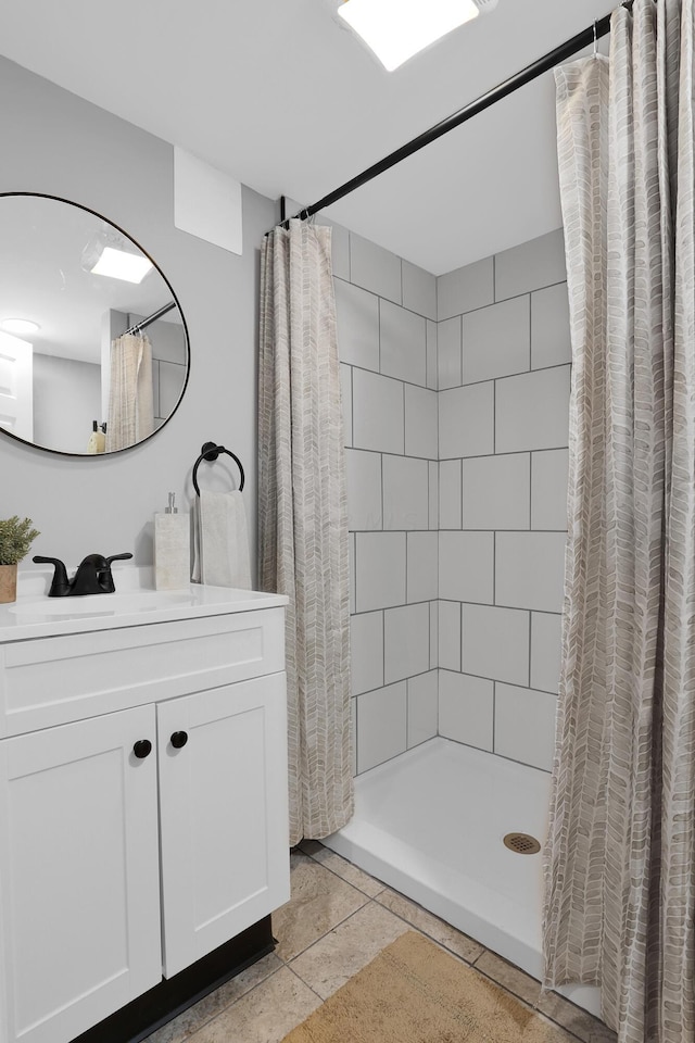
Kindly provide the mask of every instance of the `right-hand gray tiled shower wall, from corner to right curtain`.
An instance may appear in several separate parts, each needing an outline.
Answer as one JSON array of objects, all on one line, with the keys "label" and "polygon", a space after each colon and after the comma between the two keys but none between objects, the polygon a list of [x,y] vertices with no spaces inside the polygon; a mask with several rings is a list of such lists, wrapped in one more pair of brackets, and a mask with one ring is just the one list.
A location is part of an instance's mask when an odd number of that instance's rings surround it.
[{"label": "right-hand gray tiled shower wall, from corner to right curtain", "polygon": [[561,230],[438,279],[439,733],[548,769],[567,528]]}]

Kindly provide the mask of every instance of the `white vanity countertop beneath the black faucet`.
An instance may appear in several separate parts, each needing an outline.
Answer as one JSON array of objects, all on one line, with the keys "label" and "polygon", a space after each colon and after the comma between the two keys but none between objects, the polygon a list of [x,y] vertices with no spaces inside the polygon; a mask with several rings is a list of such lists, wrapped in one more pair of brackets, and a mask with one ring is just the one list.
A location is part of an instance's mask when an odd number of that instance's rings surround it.
[{"label": "white vanity countertop beneath the black faucet", "polygon": [[52,574],[52,568],[20,571],[17,600],[0,605],[0,644],[281,607],[289,601],[285,594],[200,583],[159,591],[152,583],[152,569],[132,566],[113,569],[113,594],[48,598]]}]

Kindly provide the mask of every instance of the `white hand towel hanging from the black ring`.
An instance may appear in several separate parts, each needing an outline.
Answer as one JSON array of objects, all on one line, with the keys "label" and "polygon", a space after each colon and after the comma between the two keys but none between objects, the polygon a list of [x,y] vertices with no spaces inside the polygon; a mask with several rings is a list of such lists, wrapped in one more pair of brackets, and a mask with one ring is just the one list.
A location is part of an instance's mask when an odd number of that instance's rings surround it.
[{"label": "white hand towel hanging from the black ring", "polygon": [[201,489],[193,524],[193,580],[250,590],[251,555],[241,493]]}]

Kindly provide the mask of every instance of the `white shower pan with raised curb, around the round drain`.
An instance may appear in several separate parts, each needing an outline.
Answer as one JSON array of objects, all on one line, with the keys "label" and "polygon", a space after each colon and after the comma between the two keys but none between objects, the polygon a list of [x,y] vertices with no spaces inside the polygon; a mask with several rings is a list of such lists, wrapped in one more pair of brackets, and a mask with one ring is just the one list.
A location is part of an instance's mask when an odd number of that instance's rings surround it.
[{"label": "white shower pan with raised curb, around the round drain", "polygon": [[[545,839],[551,778],[447,739],[431,739],[355,780],[352,821],[327,847],[541,977],[542,855],[503,844]],[[598,1014],[598,990],[561,991]]]}]

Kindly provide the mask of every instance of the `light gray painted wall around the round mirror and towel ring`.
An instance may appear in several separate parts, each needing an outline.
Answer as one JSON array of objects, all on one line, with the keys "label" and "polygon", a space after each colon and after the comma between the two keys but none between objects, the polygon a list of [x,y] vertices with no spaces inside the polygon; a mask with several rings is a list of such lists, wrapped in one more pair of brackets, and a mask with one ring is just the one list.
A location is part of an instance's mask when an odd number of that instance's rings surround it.
[{"label": "light gray painted wall around the round mirror and towel ring", "polygon": [[[200,447],[216,439],[245,466],[255,533],[258,246],[275,204],[243,190],[244,252],[236,256],[174,227],[170,144],[5,59],[0,93],[0,190],[60,196],[121,225],[172,282],[191,344],[184,402],[140,447],[73,460],[0,437],[0,516],[34,519],[36,553],[75,564],[89,552],[129,550],[137,564],[150,564],[153,513],[169,490],[186,505]],[[200,480],[212,488],[230,488],[237,477],[233,464],[205,472],[201,465]],[[252,554],[255,561],[255,543]]]}]

